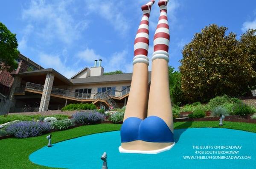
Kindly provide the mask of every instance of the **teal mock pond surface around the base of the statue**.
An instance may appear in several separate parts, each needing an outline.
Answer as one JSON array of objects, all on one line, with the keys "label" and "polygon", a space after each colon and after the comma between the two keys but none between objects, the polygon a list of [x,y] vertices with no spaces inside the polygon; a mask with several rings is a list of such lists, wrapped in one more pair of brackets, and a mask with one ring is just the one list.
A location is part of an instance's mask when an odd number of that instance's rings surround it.
[{"label": "teal mock pond surface around the base of the statue", "polygon": [[[62,141],[50,148],[43,147],[33,152],[29,159],[49,167],[100,169],[100,157],[107,152],[109,169],[256,168],[256,152],[253,151],[256,133],[220,128],[180,129],[174,133],[176,145],[156,155],[119,153],[120,132],[114,131]],[[193,149],[193,146],[199,149]]]}]

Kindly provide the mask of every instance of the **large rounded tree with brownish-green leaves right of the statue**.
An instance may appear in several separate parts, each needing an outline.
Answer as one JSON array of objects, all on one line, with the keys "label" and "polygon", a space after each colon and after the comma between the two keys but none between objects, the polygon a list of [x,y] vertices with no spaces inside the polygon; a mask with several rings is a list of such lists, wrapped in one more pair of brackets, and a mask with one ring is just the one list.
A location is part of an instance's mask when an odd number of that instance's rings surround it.
[{"label": "large rounded tree with brownish-green leaves right of the statue", "polygon": [[180,61],[181,88],[190,101],[247,92],[255,73],[239,48],[236,34],[225,35],[226,31],[226,27],[209,25],[184,46]]}]

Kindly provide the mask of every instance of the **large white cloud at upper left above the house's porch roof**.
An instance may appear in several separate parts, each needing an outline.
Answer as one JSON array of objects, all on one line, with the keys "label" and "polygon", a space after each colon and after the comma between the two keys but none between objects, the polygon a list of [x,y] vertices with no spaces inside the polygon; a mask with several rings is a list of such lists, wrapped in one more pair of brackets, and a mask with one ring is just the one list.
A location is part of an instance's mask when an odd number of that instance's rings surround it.
[{"label": "large white cloud at upper left above the house's porch roof", "polygon": [[46,3],[45,0],[31,0],[29,7],[22,11],[22,19],[36,25],[35,34],[47,42],[59,39],[70,44],[88,26],[86,20],[74,20],[67,10],[71,3],[72,1]]}]

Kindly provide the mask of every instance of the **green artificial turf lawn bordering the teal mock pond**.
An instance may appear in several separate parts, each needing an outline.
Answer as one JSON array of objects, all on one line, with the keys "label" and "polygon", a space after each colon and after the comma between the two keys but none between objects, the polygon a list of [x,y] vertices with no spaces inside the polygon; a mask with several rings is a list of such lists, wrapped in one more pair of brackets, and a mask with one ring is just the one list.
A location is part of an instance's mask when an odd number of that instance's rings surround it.
[{"label": "green artificial turf lawn bordering the teal mock pond", "polygon": [[[99,132],[120,130],[121,124],[96,124],[76,127],[70,130],[52,132],[52,143],[90,135]],[[219,127],[218,121],[189,121],[176,122],[175,129],[198,128],[198,127]],[[229,128],[256,132],[256,124],[224,121],[224,126]],[[32,138],[7,138],[0,140],[0,169],[46,169],[49,167],[39,166],[29,161],[29,155],[47,145],[46,134]]]}]

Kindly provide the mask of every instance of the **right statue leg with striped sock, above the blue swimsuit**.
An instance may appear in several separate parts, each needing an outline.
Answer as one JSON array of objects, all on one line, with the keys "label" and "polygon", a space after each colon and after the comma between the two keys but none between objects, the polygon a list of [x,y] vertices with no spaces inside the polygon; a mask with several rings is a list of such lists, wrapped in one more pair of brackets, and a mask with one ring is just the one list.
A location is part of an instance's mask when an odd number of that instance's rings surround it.
[{"label": "right statue leg with striped sock, above the blue swimsuit", "polygon": [[154,53],[152,57],[151,85],[148,99],[148,116],[158,116],[165,121],[173,132],[172,104],[169,94],[169,25],[167,21],[167,3],[160,0],[160,17],[154,35]]}]

